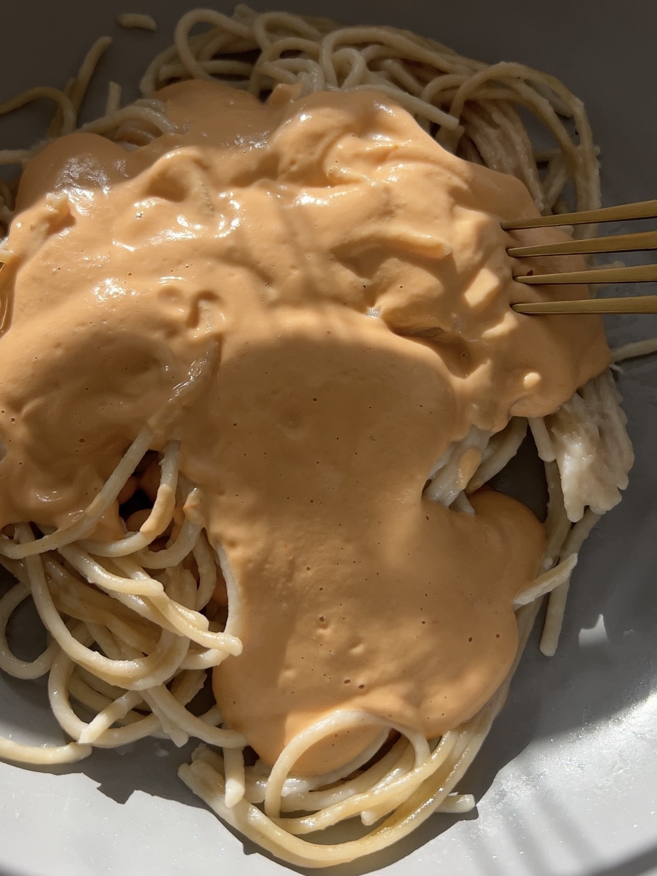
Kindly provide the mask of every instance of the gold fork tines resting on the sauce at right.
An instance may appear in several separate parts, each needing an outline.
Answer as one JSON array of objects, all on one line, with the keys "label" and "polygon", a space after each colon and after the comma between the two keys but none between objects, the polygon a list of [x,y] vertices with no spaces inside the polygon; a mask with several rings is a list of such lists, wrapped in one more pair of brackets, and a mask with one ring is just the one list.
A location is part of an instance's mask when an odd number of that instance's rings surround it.
[{"label": "gold fork tines resting on the sauce at right", "polygon": [[[526,228],[546,228],[555,225],[621,222],[630,219],[648,219],[657,216],[657,201],[639,201],[578,213],[538,216],[502,223],[505,231]],[[635,234],[617,234],[611,237],[590,237],[569,240],[561,244],[539,246],[512,246],[507,252],[513,258],[529,256],[557,256],[590,252],[636,252],[657,250],[657,231],[639,231]],[[559,283],[646,283],[657,281],[657,265],[591,268],[588,271],[569,271],[552,274],[529,274],[515,277],[527,285],[554,285]],[[535,301],[514,304],[520,314],[657,314],[657,295],[636,295],[627,298],[587,298],[569,301]]]}]

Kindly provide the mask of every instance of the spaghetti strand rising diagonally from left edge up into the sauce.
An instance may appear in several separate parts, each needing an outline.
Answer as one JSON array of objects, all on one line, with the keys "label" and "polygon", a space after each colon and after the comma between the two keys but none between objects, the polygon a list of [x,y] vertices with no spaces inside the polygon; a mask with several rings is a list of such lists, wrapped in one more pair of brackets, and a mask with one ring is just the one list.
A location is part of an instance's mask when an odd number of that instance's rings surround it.
[{"label": "spaghetti strand rising diagonally from left edge up into the sauce", "polygon": [[43,538],[26,540],[21,544],[14,544],[6,536],[2,536],[0,538],[0,553],[12,559],[20,560],[25,556],[41,554],[46,550],[58,550],[62,546],[71,544],[72,541],[87,535],[102,518],[102,515],[117,500],[118,494],[123,489],[125,482],[132,472],[137,468],[137,463],[149,448],[153,437],[152,431],[149,428],[142,429],[137,438],[131,443],[130,448],[126,450],[117,468],[102,486],[102,490],[81,513],[80,519],[75,520],[74,523],[68,526],[56,529],[50,535],[43,536]]}]

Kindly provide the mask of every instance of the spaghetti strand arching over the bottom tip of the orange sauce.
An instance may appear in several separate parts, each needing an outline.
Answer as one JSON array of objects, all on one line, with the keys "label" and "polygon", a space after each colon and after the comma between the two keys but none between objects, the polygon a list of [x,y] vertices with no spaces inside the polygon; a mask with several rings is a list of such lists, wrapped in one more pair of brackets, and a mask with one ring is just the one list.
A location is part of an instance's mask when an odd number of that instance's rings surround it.
[{"label": "spaghetti strand arching over the bottom tip of the orange sauce", "polygon": [[384,724],[386,727],[392,727],[392,729],[399,733],[403,733],[415,750],[415,766],[420,767],[428,762],[430,758],[429,746],[427,739],[424,738],[420,731],[413,730],[412,727],[406,727],[402,724],[386,721],[364,710],[336,710],[329,717],[321,718],[305,730],[297,733],[287,743],[283,751],[280,752],[267,781],[265,814],[270,818],[279,817],[283,783],[294,764],[300,759],[302,754],[307,752],[308,748],[321,741],[321,739],[326,738],[330,733],[351,730],[354,727],[367,726],[369,724]]}]

